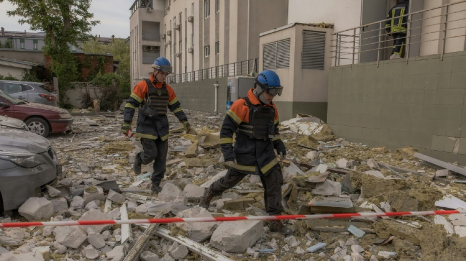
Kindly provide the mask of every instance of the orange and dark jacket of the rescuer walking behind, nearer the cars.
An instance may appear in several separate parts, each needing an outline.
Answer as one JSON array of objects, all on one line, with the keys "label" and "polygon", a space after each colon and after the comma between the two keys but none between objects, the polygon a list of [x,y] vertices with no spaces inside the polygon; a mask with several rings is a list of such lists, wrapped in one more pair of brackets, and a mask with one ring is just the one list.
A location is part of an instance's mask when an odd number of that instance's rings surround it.
[{"label": "orange and dark jacket of the rescuer walking behind, nearer the cars", "polygon": [[130,123],[136,108],[142,107],[148,100],[151,100],[150,105],[156,109],[158,116],[150,118],[142,114],[141,108],[139,108],[134,136],[152,140],[160,138],[165,141],[168,139],[169,128],[167,107],[180,122],[186,121],[187,118],[172,87],[166,83],[156,82],[154,73],[151,74],[149,80],[152,83],[151,86],[148,86],[144,80],[134,86],[134,90],[125,104],[123,121]]}]

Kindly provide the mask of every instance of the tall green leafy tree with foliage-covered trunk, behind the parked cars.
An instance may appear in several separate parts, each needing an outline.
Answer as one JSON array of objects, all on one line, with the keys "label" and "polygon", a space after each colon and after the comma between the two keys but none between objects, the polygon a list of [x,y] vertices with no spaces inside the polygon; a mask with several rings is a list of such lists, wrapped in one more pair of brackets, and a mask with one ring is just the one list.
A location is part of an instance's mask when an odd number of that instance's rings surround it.
[{"label": "tall green leafy tree with foliage-covered trunk, behind the parked cars", "polygon": [[[0,0],[3,2],[4,0]],[[18,16],[19,24],[29,24],[31,30],[44,31],[44,53],[51,58],[50,69],[58,78],[60,100],[69,83],[76,79],[76,63],[69,44],[90,38],[94,14],[88,9],[91,0],[8,0],[16,9],[7,11],[8,16]]]}]

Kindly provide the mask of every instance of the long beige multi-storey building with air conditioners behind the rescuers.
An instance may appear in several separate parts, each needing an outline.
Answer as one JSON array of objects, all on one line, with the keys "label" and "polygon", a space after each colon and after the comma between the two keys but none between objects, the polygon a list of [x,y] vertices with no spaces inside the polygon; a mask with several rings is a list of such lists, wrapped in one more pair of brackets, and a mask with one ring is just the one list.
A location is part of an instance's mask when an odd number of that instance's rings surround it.
[{"label": "long beige multi-storey building with air conditioners behind the rescuers", "polygon": [[259,33],[287,24],[287,0],[136,0],[130,8],[132,85],[159,56],[173,74],[259,57]]}]

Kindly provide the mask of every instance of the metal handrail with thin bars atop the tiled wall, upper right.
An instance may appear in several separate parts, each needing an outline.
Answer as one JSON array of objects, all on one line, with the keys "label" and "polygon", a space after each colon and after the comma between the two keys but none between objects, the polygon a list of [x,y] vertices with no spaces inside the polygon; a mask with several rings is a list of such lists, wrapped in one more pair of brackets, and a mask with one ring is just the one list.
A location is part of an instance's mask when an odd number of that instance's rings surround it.
[{"label": "metal handrail with thin bars atop the tiled wall, upper right", "polygon": [[[409,61],[410,47],[413,45],[422,45],[423,43],[439,41],[439,51],[441,54],[440,59],[443,60],[443,55],[445,53],[445,47],[448,44],[448,40],[458,37],[465,37],[466,35],[463,32],[458,32],[459,29],[466,29],[466,8],[461,7],[461,10],[450,11],[452,6],[459,6],[459,4],[465,3],[466,0],[462,0],[455,3],[443,4],[438,7],[427,8],[424,10],[410,12],[408,14],[397,16],[390,19],[384,19],[377,22],[363,24],[361,26],[349,28],[346,30],[338,31],[333,33],[334,39],[332,39],[331,47],[333,50],[333,56],[335,60],[332,62],[335,66],[340,65],[340,59],[352,60],[350,64],[359,63],[361,59],[361,53],[369,51],[377,51],[377,66],[381,56],[385,56],[384,52],[388,46],[388,42],[391,42],[391,39],[387,39],[387,36],[390,34],[385,31],[386,22],[391,21],[392,19],[400,19],[402,17],[407,17],[407,31],[405,38],[405,57],[406,63]],[[426,12],[429,11],[440,11],[440,14],[432,14],[426,17]],[[448,20],[449,17],[455,14],[464,13],[463,17],[455,17],[454,20]],[[421,14],[422,18],[416,18],[413,20],[413,16],[416,14]],[[432,19],[437,19],[439,21],[432,21]],[[433,24],[426,24],[426,21],[432,21]],[[463,24],[458,24],[464,22]],[[414,24],[417,23],[417,24]],[[367,28],[370,25],[378,25],[378,28]],[[414,27],[413,27],[414,25]],[[434,27],[435,26],[435,27]],[[452,27],[454,26],[454,27]],[[436,28],[437,27],[437,28]],[[428,29],[434,28],[434,29]],[[432,30],[432,31],[426,31]],[[453,33],[451,33],[453,32]],[[425,39],[426,35],[429,34],[439,34],[439,36],[434,36],[433,39]],[[413,39],[414,38],[414,39]],[[419,39],[416,39],[419,38]],[[431,37],[429,37],[431,38]],[[414,41],[413,41],[414,40]],[[441,46],[440,46],[441,44]],[[377,47],[375,47],[377,46]],[[384,51],[384,52],[382,52]],[[375,56],[375,54],[374,54]],[[365,56],[369,57],[369,56]],[[369,58],[370,60],[370,58]],[[345,63],[347,64],[347,63]]]}]

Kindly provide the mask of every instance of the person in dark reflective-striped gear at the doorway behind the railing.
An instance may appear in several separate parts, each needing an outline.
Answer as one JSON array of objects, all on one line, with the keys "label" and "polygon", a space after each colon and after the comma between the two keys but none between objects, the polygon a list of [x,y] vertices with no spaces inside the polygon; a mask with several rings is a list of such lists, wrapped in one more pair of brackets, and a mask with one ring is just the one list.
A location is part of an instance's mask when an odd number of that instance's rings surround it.
[{"label": "person in dark reflective-striped gear at the doorway behind the railing", "polygon": [[[390,59],[401,58],[406,41],[406,30],[408,28],[409,0],[397,0],[397,4],[388,12],[385,30],[388,36],[393,38],[393,50]],[[402,16],[402,17],[400,17]]]}]

